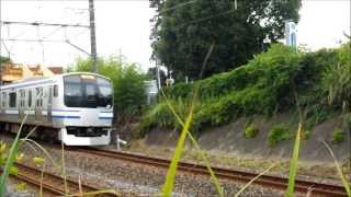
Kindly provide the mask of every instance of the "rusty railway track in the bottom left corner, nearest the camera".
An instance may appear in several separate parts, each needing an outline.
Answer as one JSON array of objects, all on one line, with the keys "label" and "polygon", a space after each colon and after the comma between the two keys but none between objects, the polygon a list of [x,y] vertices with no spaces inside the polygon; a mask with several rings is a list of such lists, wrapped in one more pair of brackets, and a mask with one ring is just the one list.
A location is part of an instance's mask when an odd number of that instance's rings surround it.
[{"label": "rusty railway track in the bottom left corner, nearest the camera", "polygon": [[[55,174],[44,172],[43,181],[41,181],[42,171],[35,167],[31,167],[24,164],[16,163],[15,166],[18,167],[18,175],[14,175],[15,178],[34,185],[36,187],[43,187],[43,192],[46,194],[45,196],[66,196],[67,193],[65,192],[65,181],[63,177],[57,176]],[[80,184],[72,179],[66,178],[67,189],[68,193],[72,196],[79,196],[80,192],[89,193],[89,192],[98,192],[101,190],[100,188]],[[101,197],[111,197],[117,196],[115,194],[99,194],[97,196]]]}]

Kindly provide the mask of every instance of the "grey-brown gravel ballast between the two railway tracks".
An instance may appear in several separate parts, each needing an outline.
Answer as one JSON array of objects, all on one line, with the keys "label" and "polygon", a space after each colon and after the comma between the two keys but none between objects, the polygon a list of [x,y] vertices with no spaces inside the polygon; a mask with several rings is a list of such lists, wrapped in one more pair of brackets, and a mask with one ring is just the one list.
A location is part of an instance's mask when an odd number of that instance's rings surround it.
[{"label": "grey-brown gravel ballast between the two railway tracks", "polygon": [[[10,137],[1,137],[1,139]],[[52,158],[61,163],[61,150],[53,146],[44,146]],[[20,149],[25,154],[23,163],[35,165],[32,162],[34,157],[43,157],[39,150],[24,146]],[[61,170],[54,167],[46,159],[46,170],[61,175]],[[126,162],[122,160],[95,157],[75,151],[65,151],[65,169],[68,177],[101,188],[115,189],[123,193],[123,196],[156,196],[159,194],[167,174],[166,169],[158,169],[149,165]],[[227,195],[236,194],[244,183],[220,181],[224,192]],[[217,196],[211,178],[191,173],[177,173],[173,196]],[[283,196],[283,193],[251,185],[241,196]]]}]

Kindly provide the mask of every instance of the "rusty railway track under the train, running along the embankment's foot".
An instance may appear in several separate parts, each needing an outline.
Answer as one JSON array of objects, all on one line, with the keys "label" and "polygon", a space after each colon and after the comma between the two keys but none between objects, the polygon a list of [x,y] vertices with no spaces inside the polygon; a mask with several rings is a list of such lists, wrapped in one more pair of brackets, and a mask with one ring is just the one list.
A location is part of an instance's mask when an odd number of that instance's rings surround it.
[{"label": "rusty railway track under the train, running along the embankment's foot", "polygon": [[[112,159],[125,160],[135,163],[143,163],[148,165],[154,165],[158,167],[168,167],[170,164],[170,160],[160,159],[160,158],[151,158],[141,154],[135,153],[127,153],[121,151],[110,151],[110,150],[101,150],[94,148],[75,148],[73,151],[90,153],[100,157],[106,157]],[[210,172],[207,171],[205,165],[189,163],[189,162],[180,162],[178,165],[178,170],[183,172],[190,172],[195,174],[208,175]],[[218,178],[227,178],[233,181],[240,181],[247,183],[256,177],[258,174],[244,172],[244,171],[235,171],[229,169],[222,169],[222,167],[212,167],[214,173]],[[287,188],[288,179],[285,177],[279,176],[271,176],[271,175],[262,175],[254,184],[276,188],[285,190]],[[309,181],[301,181],[296,179],[295,182],[295,190],[301,194],[309,193],[313,196],[347,196],[347,193],[342,186],[339,185],[331,185],[331,184],[324,184],[324,183],[316,183]]]}]

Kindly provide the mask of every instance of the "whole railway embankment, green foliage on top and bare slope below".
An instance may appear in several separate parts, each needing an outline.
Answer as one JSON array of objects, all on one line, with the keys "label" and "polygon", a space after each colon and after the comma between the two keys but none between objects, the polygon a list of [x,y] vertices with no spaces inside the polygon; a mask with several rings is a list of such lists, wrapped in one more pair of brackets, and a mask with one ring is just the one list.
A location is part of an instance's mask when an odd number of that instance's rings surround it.
[{"label": "whole railway embankment, green foliage on top and bare slope below", "polygon": [[[351,154],[350,47],[318,51],[273,45],[248,63],[194,83],[165,88],[159,102],[139,123],[141,151],[155,146],[172,153],[182,124],[193,109],[190,131],[200,147],[229,165],[264,169],[288,161],[299,123],[303,124],[298,162],[306,174],[336,176],[332,157],[348,166]],[[196,91],[194,91],[196,90]],[[193,102],[194,94],[196,95]],[[141,142],[141,143],[139,143]],[[133,146],[132,146],[133,147]],[[191,143],[186,144],[193,152]],[[193,153],[196,158],[196,153]],[[215,162],[216,163],[216,162]],[[330,166],[330,167],[327,167]],[[302,171],[299,171],[302,172]],[[346,167],[350,174],[350,167]]]}]

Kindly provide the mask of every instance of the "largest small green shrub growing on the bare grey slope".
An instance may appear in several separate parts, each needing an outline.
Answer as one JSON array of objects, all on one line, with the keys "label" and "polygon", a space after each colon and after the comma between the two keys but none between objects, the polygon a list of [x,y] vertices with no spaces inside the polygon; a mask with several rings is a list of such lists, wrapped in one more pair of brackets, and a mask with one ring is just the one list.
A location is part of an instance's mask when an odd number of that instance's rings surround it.
[{"label": "largest small green shrub growing on the bare grey slope", "polygon": [[269,146],[273,147],[275,146],[279,141],[283,140],[290,140],[292,139],[292,132],[288,129],[288,127],[284,124],[280,124],[274,126],[268,135],[268,143]]}]

